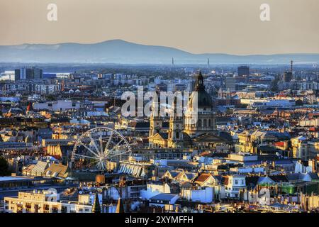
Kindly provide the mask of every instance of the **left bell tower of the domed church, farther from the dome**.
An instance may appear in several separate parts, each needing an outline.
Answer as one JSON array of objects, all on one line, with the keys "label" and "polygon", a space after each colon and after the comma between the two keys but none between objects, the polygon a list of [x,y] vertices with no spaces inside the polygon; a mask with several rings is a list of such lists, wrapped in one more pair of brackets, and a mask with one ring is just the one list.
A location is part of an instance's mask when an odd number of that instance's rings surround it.
[{"label": "left bell tower of the domed church, farther from the dome", "polygon": [[159,94],[157,94],[157,99],[152,101],[152,113],[150,115],[150,131],[149,137],[154,136],[156,133],[159,133],[162,130],[162,119],[160,116],[160,101]]}]

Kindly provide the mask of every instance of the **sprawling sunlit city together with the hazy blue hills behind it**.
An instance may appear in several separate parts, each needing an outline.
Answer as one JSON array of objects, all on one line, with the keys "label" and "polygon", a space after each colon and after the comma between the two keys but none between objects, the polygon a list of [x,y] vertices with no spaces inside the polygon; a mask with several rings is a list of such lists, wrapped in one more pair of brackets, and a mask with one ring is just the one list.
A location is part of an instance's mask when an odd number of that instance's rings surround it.
[{"label": "sprawling sunlit city together with the hazy blue hills behind it", "polygon": [[1,45],[0,213],[318,213],[318,61]]}]

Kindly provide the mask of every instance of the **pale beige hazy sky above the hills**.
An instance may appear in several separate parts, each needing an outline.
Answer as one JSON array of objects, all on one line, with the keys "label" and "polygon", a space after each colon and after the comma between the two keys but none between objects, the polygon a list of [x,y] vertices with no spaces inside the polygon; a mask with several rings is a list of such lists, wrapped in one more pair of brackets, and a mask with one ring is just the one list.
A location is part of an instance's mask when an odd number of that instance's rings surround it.
[{"label": "pale beige hazy sky above the hills", "polygon": [[[57,21],[47,5],[57,4]],[[269,4],[271,21],[259,19]],[[123,39],[194,53],[319,53],[319,0],[0,0],[0,45]]]}]

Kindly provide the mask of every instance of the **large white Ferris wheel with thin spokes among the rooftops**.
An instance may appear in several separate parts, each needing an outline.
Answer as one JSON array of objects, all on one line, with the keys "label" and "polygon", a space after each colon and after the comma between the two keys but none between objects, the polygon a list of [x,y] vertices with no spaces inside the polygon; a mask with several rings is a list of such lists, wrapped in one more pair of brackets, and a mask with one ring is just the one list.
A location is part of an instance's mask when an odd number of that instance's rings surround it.
[{"label": "large white Ferris wheel with thin spokes among the rooftops", "polygon": [[121,133],[107,127],[92,128],[81,135],[72,151],[72,163],[81,162],[85,167],[106,170],[108,161],[121,160],[130,155],[131,148]]}]

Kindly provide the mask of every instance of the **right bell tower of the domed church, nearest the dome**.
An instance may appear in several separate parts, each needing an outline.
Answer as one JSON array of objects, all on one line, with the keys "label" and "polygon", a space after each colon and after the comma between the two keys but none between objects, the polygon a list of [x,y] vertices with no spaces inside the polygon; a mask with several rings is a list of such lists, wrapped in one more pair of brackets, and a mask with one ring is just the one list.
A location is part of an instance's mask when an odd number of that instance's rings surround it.
[{"label": "right bell tower of the domed church, nearest the dome", "polygon": [[181,116],[177,113],[177,96],[174,96],[174,101],[172,104],[172,112],[169,118],[169,135],[167,145],[169,148],[179,148],[181,147],[184,135],[184,122],[183,113],[181,111]]}]

